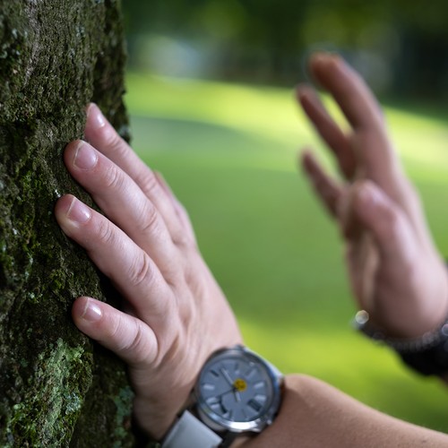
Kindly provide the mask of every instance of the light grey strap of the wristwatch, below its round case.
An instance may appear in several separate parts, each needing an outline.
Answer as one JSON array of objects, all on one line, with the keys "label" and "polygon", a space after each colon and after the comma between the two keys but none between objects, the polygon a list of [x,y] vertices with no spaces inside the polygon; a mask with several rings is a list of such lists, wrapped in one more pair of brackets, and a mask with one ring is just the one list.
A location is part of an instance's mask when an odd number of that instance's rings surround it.
[{"label": "light grey strap of the wristwatch, below its round case", "polygon": [[221,442],[219,435],[185,410],[169,430],[161,448],[215,448]]}]

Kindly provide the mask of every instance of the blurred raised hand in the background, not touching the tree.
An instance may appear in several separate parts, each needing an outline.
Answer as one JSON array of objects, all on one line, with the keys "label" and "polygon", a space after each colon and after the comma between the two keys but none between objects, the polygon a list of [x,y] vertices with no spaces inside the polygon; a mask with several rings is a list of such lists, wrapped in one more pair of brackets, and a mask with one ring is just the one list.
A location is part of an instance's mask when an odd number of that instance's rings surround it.
[{"label": "blurred raised hand in the background, not touching the tree", "polygon": [[341,129],[312,87],[297,88],[301,107],[340,170],[334,178],[313,152],[302,152],[306,176],[340,226],[358,307],[387,336],[419,337],[446,319],[448,279],[418,194],[393,149],[382,110],[358,73],[330,54],[314,55],[309,67],[350,126]]}]

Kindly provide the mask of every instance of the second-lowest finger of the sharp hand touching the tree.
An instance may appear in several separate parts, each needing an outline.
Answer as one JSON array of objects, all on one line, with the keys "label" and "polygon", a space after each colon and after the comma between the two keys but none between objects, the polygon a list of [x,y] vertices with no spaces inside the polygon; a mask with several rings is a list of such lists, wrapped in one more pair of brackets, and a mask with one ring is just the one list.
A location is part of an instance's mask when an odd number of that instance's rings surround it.
[{"label": "second-lowest finger of the sharp hand touching the tree", "polygon": [[56,220],[152,328],[171,306],[172,291],[158,267],[132,239],[107,218],[72,195],[56,202]]}]

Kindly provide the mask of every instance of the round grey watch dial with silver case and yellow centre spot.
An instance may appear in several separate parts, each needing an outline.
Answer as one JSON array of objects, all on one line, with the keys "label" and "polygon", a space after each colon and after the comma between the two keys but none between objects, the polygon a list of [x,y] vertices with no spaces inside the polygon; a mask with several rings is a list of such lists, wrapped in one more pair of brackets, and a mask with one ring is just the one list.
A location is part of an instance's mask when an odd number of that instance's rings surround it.
[{"label": "round grey watch dial with silver case and yellow centre spot", "polygon": [[[271,367],[246,349],[228,349],[202,368],[195,393],[202,419],[214,429],[256,431],[273,416],[280,401]],[[272,409],[275,407],[275,409]]]}]

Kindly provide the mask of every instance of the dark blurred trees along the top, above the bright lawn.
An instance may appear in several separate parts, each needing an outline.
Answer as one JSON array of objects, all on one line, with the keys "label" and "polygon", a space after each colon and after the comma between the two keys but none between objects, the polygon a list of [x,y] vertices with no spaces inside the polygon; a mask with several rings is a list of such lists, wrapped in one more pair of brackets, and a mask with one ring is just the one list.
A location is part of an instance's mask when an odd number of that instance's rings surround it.
[{"label": "dark blurred trees along the top, above the bright lawn", "polygon": [[292,85],[306,56],[326,49],[379,93],[447,96],[444,0],[126,0],[124,9],[134,69]]}]

